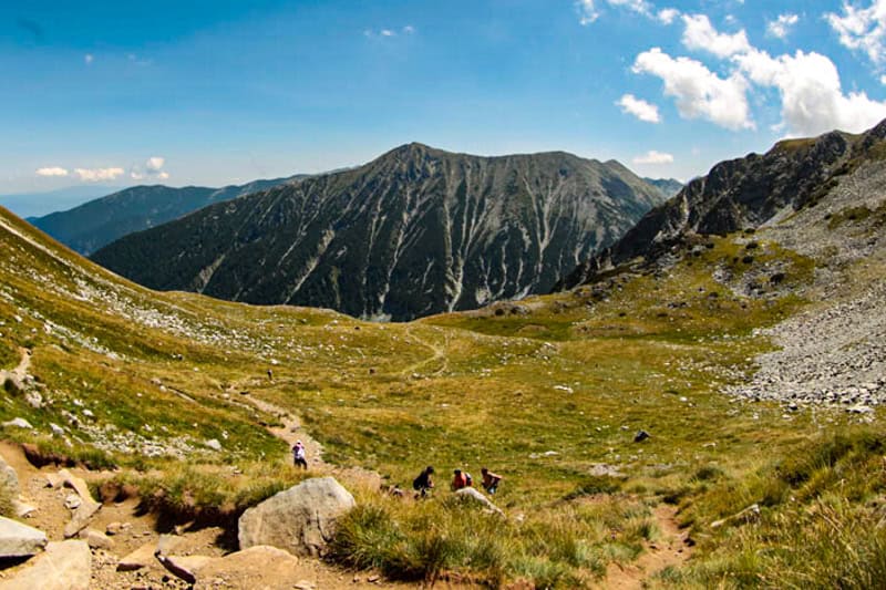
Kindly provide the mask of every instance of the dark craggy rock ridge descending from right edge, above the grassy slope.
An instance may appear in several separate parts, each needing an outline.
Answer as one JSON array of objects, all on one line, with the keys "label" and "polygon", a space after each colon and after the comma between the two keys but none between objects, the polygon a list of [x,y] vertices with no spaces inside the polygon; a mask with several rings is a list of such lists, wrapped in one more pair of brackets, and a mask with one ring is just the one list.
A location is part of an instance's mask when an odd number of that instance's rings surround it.
[{"label": "dark craggy rock ridge descending from right edge, above the grassy slope", "polygon": [[655,261],[692,235],[753,229],[779,215],[814,206],[859,162],[880,157],[884,137],[886,122],[861,135],[835,131],[815,138],[787,139],[764,155],[722,162],[646,214],[557,288],[591,281],[600,271],[638,257]]}]

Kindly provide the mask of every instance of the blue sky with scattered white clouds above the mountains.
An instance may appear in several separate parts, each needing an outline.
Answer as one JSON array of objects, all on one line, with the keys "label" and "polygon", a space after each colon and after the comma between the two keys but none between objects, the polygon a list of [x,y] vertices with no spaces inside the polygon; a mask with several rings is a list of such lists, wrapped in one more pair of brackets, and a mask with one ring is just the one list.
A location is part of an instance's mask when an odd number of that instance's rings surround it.
[{"label": "blue sky with scattered white clouds above the mountains", "polygon": [[220,186],[411,141],[688,179],[886,117],[884,43],[886,0],[3,2],[0,194]]}]

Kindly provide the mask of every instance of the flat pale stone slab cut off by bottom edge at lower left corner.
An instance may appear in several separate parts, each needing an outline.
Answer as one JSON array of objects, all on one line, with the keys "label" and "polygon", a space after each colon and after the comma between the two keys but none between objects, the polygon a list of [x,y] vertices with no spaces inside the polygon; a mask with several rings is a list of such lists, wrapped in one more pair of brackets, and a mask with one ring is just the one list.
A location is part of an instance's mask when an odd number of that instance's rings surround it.
[{"label": "flat pale stone slab cut off by bottom edge at lower left corner", "polygon": [[51,542],[0,590],[89,590],[92,553],[85,541]]}]

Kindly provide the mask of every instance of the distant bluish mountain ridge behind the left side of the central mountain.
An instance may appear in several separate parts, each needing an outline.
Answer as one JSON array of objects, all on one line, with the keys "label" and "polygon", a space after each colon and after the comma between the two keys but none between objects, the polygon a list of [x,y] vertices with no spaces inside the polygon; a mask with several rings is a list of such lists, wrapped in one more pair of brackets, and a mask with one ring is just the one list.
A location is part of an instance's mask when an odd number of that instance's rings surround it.
[{"label": "distant bluish mountain ridge behind the left side of the central mountain", "polygon": [[89,256],[115,239],[177,219],[185,214],[298,177],[255,180],[224,188],[134,186],[66,211],[29,219],[56,240]]}]

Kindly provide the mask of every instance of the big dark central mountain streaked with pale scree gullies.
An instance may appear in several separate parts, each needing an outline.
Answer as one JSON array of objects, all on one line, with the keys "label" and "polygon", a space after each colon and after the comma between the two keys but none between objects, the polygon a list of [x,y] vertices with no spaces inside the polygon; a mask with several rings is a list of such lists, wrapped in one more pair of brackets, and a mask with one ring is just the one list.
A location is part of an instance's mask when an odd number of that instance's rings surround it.
[{"label": "big dark central mountain streaked with pale scree gullies", "polygon": [[662,199],[617,162],[409,144],[127,236],[93,260],[155,289],[410,320],[546,292]]}]

